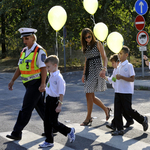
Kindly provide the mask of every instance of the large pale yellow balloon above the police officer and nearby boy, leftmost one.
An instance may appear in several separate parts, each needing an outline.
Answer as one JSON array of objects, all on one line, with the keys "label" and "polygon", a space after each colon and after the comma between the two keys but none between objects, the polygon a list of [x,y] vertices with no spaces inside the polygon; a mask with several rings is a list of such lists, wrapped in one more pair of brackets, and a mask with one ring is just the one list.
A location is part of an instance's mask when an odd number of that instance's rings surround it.
[{"label": "large pale yellow balloon above the police officer and nearby boy, leftmost one", "polygon": [[59,31],[67,20],[67,13],[61,6],[54,6],[48,12],[48,21],[52,28]]}]

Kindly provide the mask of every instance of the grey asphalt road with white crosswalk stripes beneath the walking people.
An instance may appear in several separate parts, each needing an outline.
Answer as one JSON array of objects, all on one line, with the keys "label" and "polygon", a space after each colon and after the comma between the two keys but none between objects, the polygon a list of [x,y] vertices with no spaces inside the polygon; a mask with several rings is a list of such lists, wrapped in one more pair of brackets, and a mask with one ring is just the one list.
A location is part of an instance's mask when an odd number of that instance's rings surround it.
[{"label": "grey asphalt road with white crosswalk stripes beneath the walking people", "polygon": [[[7,86],[12,77],[12,73],[0,74],[0,150],[37,150],[38,144],[43,142],[43,122],[33,111],[29,124],[25,127],[23,139],[21,141],[11,141],[5,138],[7,133],[13,129],[21,108],[22,98],[25,88],[19,79],[14,84],[13,91],[9,91]],[[125,129],[124,136],[111,136],[111,132],[106,128],[105,114],[101,108],[94,105],[92,116],[95,118],[91,127],[81,127],[86,116],[86,98],[83,92],[80,74],[72,76],[71,73],[63,74],[67,82],[66,95],[59,121],[76,129],[76,141],[69,143],[66,137],[57,133],[54,147],[51,150],[150,150],[150,129],[146,132],[140,124],[135,124]],[[103,103],[111,107],[113,118],[114,91],[108,88],[105,92],[97,92]],[[133,108],[150,119],[150,92],[137,91],[133,95]],[[124,122],[125,123],[125,122]],[[50,149],[50,148],[46,148]]]}]

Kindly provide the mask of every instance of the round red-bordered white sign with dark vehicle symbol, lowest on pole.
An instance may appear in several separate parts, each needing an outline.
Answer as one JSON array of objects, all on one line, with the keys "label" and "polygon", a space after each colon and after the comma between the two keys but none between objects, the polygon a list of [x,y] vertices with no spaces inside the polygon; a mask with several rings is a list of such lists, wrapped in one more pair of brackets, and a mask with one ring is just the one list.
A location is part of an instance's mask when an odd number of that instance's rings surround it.
[{"label": "round red-bordered white sign with dark vehicle symbol, lowest on pole", "polygon": [[149,36],[148,36],[147,32],[140,31],[136,36],[136,41],[141,46],[147,45],[148,41],[149,41]]}]

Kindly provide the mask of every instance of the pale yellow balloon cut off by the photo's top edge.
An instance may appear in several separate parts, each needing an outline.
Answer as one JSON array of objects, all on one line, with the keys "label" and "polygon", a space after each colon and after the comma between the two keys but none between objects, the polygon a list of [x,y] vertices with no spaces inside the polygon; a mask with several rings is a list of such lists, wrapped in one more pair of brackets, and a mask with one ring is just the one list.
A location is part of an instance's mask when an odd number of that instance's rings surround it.
[{"label": "pale yellow balloon cut off by the photo's top edge", "polygon": [[84,0],[84,9],[91,15],[94,15],[98,8],[98,0]]}]

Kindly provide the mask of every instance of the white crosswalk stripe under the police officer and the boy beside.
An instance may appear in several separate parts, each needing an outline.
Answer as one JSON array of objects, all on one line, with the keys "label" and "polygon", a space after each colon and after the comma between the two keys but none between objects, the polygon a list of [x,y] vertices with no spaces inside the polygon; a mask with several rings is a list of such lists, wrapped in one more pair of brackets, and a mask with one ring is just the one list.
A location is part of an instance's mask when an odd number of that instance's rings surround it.
[{"label": "white crosswalk stripe under the police officer and the boy beside", "polygon": [[[23,136],[22,139],[20,141],[14,141],[11,140],[9,138],[6,138],[7,134],[10,134],[11,132],[1,132],[0,136],[2,136],[3,138],[9,140],[9,141],[13,141],[15,144],[20,145],[28,150],[37,150],[39,148],[39,144],[42,143],[45,140],[45,137],[42,137],[40,135],[37,135],[33,132],[27,131],[27,130],[23,130]],[[44,150],[60,150],[60,149],[65,149],[65,150],[74,150],[72,148],[69,148],[67,146],[64,146],[60,143],[54,142],[54,146],[52,148],[48,147],[48,148],[44,148]]]}]

